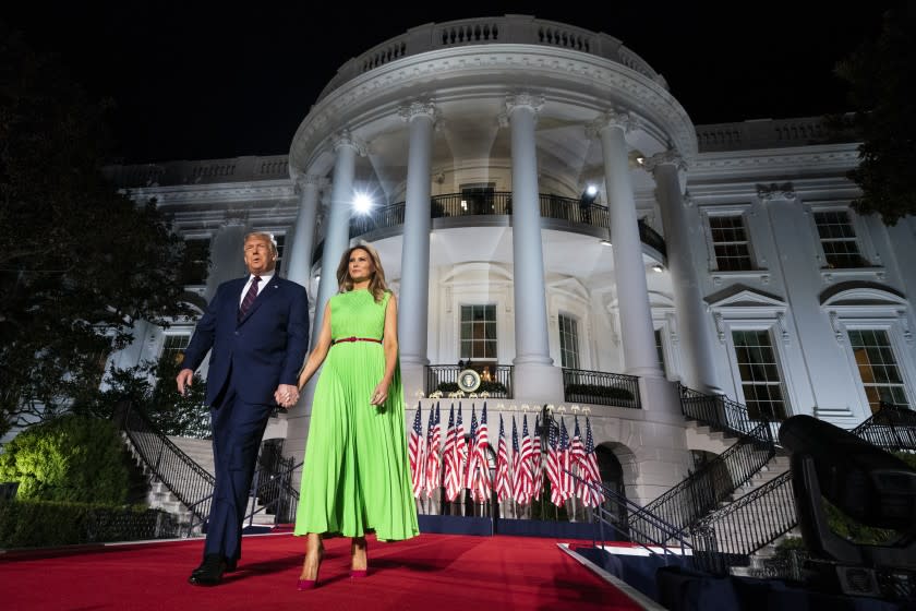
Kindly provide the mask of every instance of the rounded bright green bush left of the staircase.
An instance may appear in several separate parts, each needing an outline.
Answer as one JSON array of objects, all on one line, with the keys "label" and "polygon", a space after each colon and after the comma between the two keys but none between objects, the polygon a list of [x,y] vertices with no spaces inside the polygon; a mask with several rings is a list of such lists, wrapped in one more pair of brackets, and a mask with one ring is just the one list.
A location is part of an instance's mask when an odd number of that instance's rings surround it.
[{"label": "rounded bright green bush left of the staircase", "polygon": [[128,499],[126,450],[114,424],[63,416],[32,427],[0,455],[0,481],[19,482],[20,500],[121,504]]}]

